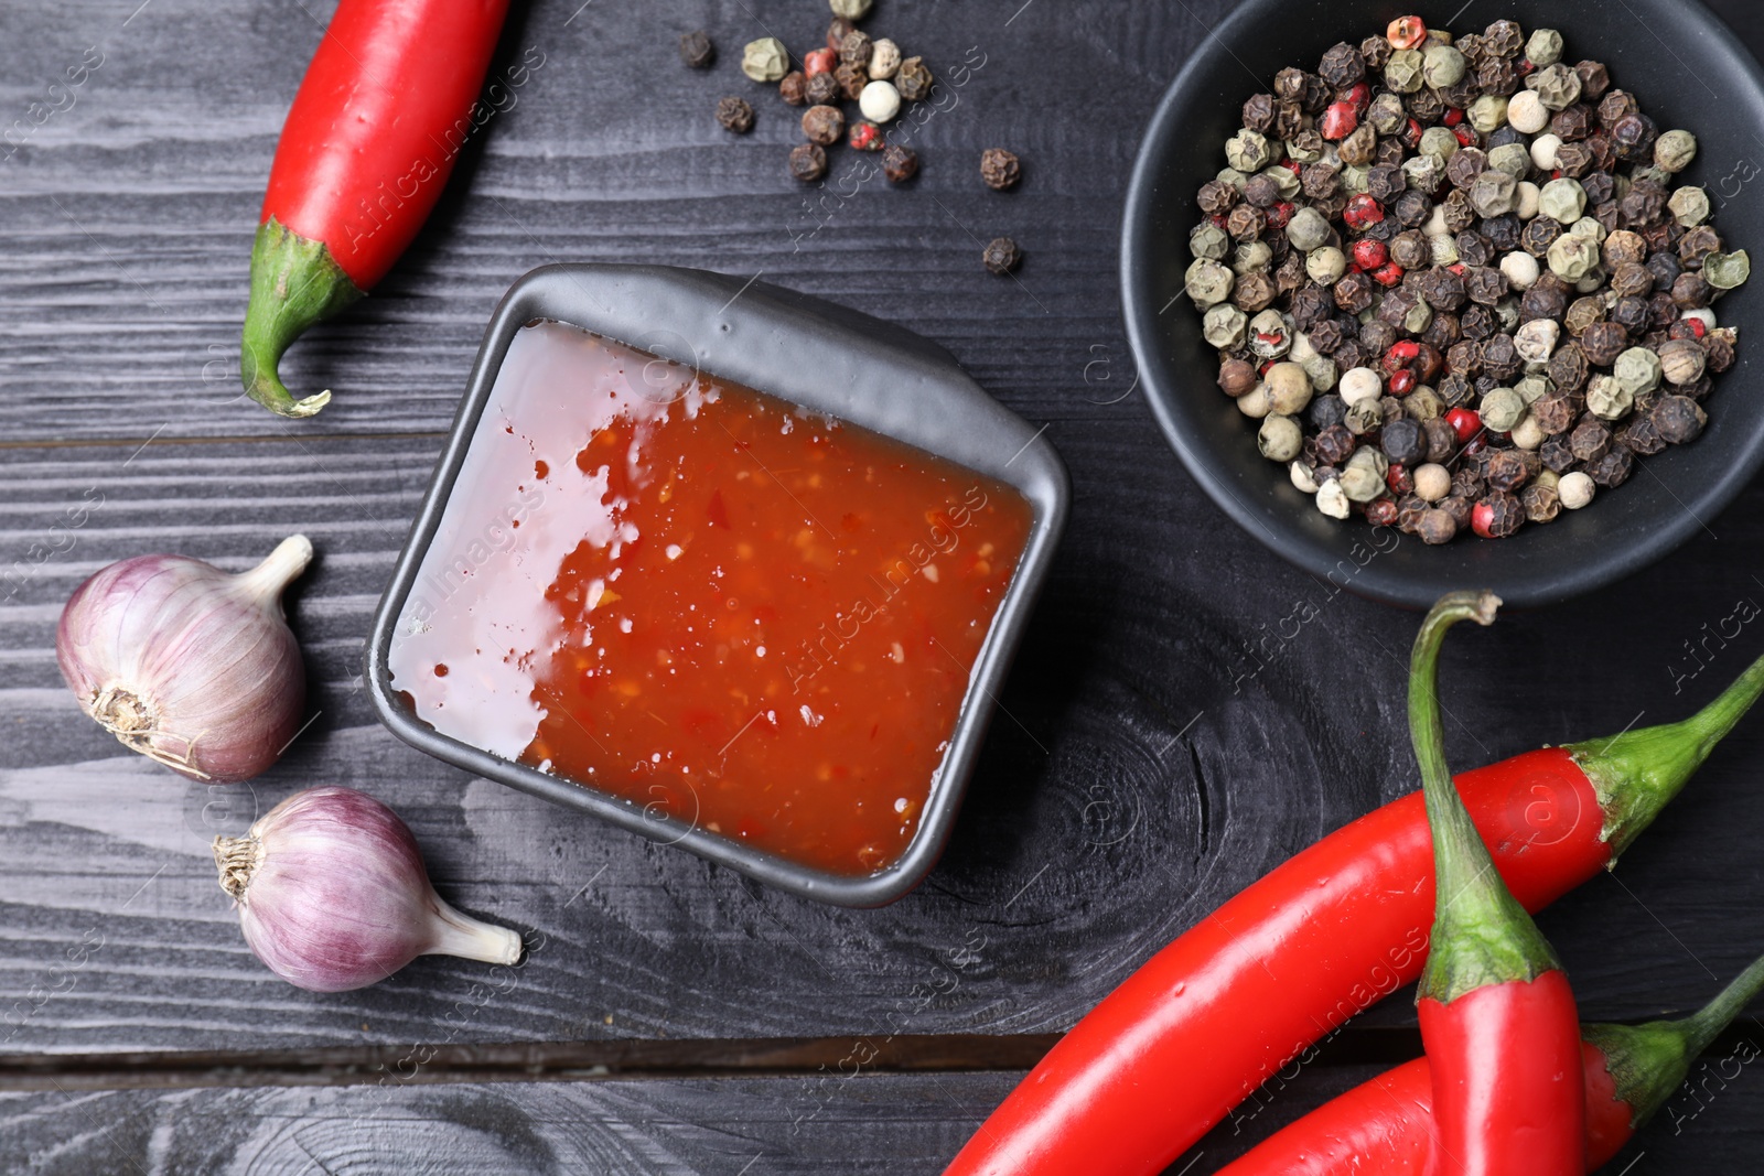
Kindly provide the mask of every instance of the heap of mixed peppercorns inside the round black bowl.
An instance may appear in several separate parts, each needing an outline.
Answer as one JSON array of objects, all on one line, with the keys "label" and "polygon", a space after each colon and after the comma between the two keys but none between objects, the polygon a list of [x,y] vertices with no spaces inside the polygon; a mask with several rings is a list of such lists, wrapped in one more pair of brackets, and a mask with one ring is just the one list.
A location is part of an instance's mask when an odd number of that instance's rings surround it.
[{"label": "heap of mixed peppercorns inside the round black bowl", "polygon": [[1185,287],[1219,386],[1334,518],[1505,538],[1693,441],[1738,333],[1697,153],[1605,65],[1420,18],[1244,102]]}]

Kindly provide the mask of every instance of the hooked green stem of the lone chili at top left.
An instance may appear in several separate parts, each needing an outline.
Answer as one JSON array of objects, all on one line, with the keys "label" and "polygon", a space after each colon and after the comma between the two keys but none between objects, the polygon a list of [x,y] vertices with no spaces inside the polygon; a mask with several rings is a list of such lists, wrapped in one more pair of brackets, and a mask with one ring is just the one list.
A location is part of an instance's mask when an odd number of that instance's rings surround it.
[{"label": "hooked green stem of the lone chili at top left", "polygon": [[330,404],[328,390],[295,400],[275,368],[302,331],[360,296],[323,242],[300,236],[275,217],[265,220],[250,247],[250,305],[238,356],[238,376],[250,398],[296,418]]}]

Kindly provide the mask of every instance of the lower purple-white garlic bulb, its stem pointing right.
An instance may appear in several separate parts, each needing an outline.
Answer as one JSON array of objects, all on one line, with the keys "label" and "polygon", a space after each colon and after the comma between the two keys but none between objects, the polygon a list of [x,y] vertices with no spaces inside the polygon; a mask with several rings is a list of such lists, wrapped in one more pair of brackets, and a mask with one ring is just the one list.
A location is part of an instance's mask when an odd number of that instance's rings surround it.
[{"label": "lower purple-white garlic bulb, its stem pointing right", "polygon": [[441,901],[416,837],[363,792],[298,792],[213,853],[245,943],[296,987],[367,987],[418,956],[520,959],[519,934]]}]

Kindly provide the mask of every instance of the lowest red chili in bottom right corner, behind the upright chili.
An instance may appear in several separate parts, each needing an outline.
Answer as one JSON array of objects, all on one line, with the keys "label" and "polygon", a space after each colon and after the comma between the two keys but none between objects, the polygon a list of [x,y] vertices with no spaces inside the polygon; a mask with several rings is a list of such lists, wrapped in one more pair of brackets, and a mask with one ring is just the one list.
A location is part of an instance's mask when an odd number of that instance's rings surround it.
[{"label": "lowest red chili in bottom right corner, behind the upright chili", "polygon": [[[1603,1167],[1764,991],[1764,959],[1681,1021],[1581,1026],[1586,1171]],[[1434,1139],[1432,1067],[1416,1058],[1268,1135],[1217,1176],[1420,1176]]]}]

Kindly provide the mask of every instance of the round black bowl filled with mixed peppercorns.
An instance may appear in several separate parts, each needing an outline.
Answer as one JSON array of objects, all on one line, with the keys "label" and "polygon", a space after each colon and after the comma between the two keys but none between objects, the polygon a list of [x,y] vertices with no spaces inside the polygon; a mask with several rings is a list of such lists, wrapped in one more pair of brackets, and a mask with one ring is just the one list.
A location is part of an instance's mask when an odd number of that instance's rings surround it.
[{"label": "round black bowl filled with mixed peppercorns", "polygon": [[1764,464],[1759,63],[1695,2],[1476,14],[1244,4],[1164,95],[1124,215],[1129,340],[1184,465],[1291,562],[1411,607],[1609,584]]}]

